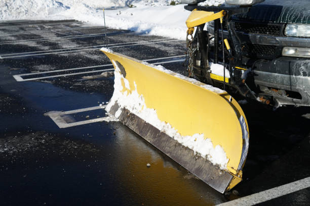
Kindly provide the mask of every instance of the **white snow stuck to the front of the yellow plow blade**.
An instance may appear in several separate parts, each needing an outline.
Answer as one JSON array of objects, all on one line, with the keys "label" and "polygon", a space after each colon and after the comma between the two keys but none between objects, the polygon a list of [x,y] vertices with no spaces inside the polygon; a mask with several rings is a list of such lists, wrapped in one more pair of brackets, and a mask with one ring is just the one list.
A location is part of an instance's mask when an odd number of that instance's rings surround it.
[{"label": "white snow stuck to the front of the yellow plow blade", "polygon": [[[137,115],[138,117],[146,121],[147,123],[153,125],[160,131],[165,132],[170,137],[173,137],[179,143],[192,149],[195,153],[198,152],[203,158],[207,158],[213,164],[220,166],[221,169],[226,169],[228,159],[226,157],[225,151],[220,145],[216,145],[214,147],[211,140],[205,138],[204,134],[193,134],[192,136],[182,136],[169,123],[165,123],[159,120],[156,110],[146,107],[143,95],[139,95],[137,92],[136,83],[134,82],[135,89],[134,90],[131,89],[129,81],[123,77],[117,64],[114,61],[112,63],[115,67],[114,93],[108,105],[105,108],[107,112],[109,112],[111,107],[115,103],[117,103],[120,106],[120,108],[115,113],[116,118],[119,118],[122,109],[125,108],[129,110],[131,113]],[[157,69],[158,67],[154,68]],[[169,72],[169,70],[165,68],[160,68],[160,70],[161,71],[164,70],[167,73]],[[127,92],[127,90],[123,92],[124,88],[122,86],[122,81],[124,82],[126,89],[130,90],[131,92]]]}]

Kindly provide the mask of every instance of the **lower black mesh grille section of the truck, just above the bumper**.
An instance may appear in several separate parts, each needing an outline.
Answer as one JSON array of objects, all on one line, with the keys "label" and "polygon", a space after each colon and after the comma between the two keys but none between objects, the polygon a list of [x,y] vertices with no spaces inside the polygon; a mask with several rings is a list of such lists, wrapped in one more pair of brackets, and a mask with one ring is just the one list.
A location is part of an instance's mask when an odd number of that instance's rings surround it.
[{"label": "lower black mesh grille section of the truck, just above the bumper", "polygon": [[282,46],[245,44],[242,50],[243,55],[246,57],[274,59],[281,56]]}]

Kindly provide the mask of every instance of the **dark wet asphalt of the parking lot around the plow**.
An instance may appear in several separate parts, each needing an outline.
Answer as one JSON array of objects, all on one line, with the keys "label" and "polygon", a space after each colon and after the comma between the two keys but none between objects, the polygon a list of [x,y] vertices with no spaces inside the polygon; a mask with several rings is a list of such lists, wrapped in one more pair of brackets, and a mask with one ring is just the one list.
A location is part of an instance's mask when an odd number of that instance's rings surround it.
[{"label": "dark wet asphalt of the parking lot around the plow", "polygon": [[[181,40],[104,31],[74,20],[0,22],[1,204],[215,205],[310,176],[310,109],[305,107],[272,111],[255,102],[242,105],[249,154],[243,181],[224,195],[119,122],[59,128],[44,114],[110,99],[113,75],[101,70],[112,66],[99,51],[102,46],[139,60],[185,52]],[[183,73],[181,61],[163,66]],[[67,121],[100,117],[105,117],[102,109],[71,114]],[[309,202],[307,188],[260,205]]]}]

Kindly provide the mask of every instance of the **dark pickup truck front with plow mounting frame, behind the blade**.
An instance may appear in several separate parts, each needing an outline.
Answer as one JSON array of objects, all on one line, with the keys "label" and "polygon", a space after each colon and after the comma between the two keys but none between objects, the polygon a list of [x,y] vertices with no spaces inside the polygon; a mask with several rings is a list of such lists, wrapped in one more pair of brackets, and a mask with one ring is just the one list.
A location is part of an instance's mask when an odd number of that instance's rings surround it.
[{"label": "dark pickup truck front with plow mounting frame, behind the blade", "polygon": [[[199,25],[187,38],[188,76],[274,108],[310,106],[309,0],[226,0],[218,7],[182,2],[189,11],[226,13],[222,23]],[[214,63],[224,74],[214,72]]]}]

